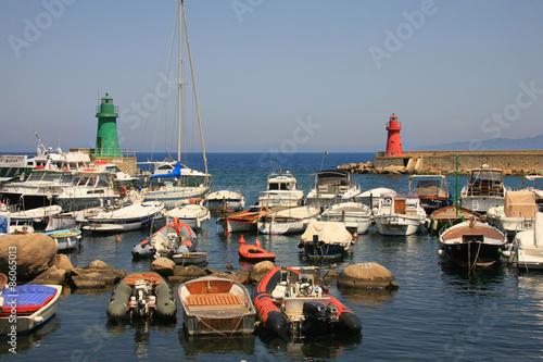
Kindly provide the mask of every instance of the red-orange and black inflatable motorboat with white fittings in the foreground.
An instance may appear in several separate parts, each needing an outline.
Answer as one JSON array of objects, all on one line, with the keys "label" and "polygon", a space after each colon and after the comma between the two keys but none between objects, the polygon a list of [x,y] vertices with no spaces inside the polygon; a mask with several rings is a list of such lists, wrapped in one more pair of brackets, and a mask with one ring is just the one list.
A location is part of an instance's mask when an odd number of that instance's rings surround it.
[{"label": "red-orange and black inflatable motorboat with white fittings in the foreground", "polygon": [[265,329],[279,336],[344,333],[356,335],[362,321],[333,296],[324,292],[318,267],[274,267],[253,290]]}]

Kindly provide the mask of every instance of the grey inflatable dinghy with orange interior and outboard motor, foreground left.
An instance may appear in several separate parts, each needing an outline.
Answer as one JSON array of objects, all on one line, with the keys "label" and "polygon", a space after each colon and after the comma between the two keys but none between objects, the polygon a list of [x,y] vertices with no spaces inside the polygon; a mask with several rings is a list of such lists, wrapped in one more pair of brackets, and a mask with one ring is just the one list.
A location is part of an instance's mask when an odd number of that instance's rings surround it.
[{"label": "grey inflatable dinghy with orange interior and outboard motor, foreground left", "polygon": [[132,273],[115,286],[105,312],[110,320],[174,319],[177,307],[172,286],[160,274]]}]

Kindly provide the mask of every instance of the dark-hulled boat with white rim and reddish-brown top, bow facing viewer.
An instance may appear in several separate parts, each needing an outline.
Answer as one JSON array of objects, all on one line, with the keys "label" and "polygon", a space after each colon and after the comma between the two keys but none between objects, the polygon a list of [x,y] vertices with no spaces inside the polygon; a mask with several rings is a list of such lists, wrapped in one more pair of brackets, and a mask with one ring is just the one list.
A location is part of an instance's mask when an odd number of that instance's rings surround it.
[{"label": "dark-hulled boat with white rim and reddish-brown top, bow facing viewer", "polygon": [[469,221],[442,229],[440,257],[460,266],[488,267],[496,263],[505,250],[507,236],[497,228],[476,221]]}]

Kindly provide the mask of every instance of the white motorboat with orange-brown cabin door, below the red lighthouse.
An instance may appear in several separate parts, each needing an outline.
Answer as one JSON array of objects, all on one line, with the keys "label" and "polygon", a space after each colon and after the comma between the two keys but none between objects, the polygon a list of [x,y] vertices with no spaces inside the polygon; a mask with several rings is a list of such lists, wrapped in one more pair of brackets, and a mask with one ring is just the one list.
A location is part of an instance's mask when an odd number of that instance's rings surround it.
[{"label": "white motorboat with orange-brown cabin door, below the red lighthouse", "polygon": [[374,208],[374,221],[382,235],[412,235],[425,224],[426,211],[417,194],[383,194]]}]

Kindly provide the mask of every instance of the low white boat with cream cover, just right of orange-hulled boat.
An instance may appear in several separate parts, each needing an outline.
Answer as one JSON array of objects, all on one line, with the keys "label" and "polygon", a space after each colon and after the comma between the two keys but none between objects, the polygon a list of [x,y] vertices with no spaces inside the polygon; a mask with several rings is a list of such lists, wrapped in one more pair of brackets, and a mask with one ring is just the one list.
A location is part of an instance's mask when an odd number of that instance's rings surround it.
[{"label": "low white boat with cream cover, just right of orange-hulled boat", "polygon": [[316,205],[305,205],[272,212],[257,222],[262,234],[303,233],[312,220],[316,220],[320,209]]}]

